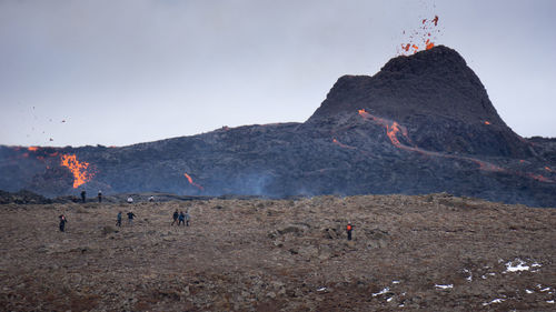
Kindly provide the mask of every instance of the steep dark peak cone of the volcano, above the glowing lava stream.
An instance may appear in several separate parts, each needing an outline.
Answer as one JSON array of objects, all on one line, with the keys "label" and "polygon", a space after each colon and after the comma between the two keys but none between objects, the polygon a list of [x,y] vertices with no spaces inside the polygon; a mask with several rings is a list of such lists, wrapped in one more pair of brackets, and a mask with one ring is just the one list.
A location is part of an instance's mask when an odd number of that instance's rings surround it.
[{"label": "steep dark peak cone of the volcano, above the glowing lava stream", "polygon": [[499,118],[475,72],[444,46],[391,59],[373,77],[341,77],[307,123],[359,109],[404,124],[427,150],[530,155],[527,142]]}]

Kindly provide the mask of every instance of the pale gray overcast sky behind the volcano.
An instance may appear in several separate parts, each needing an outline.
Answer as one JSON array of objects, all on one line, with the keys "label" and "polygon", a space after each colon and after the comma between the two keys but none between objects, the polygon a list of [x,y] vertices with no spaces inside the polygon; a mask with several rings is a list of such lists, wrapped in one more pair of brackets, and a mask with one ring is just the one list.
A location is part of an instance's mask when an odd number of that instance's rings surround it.
[{"label": "pale gray overcast sky behind the volcano", "polygon": [[552,0],[0,0],[0,144],[302,122],[435,14],[435,43],[466,59],[506,123],[556,137],[555,13]]}]

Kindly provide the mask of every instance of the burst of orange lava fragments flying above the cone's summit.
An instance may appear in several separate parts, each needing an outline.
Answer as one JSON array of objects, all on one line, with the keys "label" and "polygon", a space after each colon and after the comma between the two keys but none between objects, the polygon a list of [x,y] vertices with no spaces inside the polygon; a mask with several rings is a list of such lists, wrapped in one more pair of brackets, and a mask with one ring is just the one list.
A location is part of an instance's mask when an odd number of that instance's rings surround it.
[{"label": "burst of orange lava fragments flying above the cone's summit", "polygon": [[[421,50],[429,50],[435,47],[436,34],[440,32],[438,27],[438,16],[433,19],[423,19],[418,30],[409,32],[406,43],[401,43],[398,48],[398,54],[409,56]],[[406,31],[404,30],[404,36]]]}]

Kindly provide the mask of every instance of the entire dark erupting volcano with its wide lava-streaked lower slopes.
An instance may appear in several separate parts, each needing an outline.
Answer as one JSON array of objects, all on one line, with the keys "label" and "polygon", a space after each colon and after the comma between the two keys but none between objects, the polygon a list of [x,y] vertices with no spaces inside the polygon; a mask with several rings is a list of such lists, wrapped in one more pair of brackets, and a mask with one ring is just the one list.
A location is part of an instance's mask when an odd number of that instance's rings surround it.
[{"label": "entire dark erupting volcano with its wide lava-streaked lower slopes", "polygon": [[[68,155],[71,168],[61,162]],[[0,189],[48,197],[81,189],[276,198],[448,192],[556,207],[556,140],[514,133],[465,60],[438,46],[394,58],[373,77],[339,78],[304,123],[121,148],[0,147]]]}]

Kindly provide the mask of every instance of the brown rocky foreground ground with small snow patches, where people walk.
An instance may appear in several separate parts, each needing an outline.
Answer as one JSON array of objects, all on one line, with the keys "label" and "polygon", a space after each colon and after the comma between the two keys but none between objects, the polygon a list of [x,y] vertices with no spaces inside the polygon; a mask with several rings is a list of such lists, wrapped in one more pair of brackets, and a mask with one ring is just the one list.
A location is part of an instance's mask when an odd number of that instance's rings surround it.
[{"label": "brown rocky foreground ground with small snow patches, where people walk", "polygon": [[556,309],[556,210],[446,193],[2,204],[0,229],[1,311]]}]

